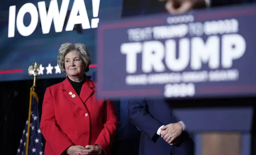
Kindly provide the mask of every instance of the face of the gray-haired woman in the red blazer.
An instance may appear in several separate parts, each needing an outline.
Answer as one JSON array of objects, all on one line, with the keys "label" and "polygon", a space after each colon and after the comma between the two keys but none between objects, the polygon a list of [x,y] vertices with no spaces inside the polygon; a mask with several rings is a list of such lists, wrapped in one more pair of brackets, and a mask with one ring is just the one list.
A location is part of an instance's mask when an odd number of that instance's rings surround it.
[{"label": "face of the gray-haired woman in the red blazer", "polygon": [[84,73],[83,60],[78,51],[70,51],[65,56],[65,71],[68,76],[81,76]]}]

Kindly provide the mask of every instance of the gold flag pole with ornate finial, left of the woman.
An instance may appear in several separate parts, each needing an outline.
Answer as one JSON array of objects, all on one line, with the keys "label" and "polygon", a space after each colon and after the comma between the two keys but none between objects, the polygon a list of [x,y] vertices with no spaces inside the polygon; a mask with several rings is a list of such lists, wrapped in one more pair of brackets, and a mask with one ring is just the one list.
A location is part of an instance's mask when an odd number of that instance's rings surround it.
[{"label": "gold flag pole with ornate finial, left of the woman", "polygon": [[30,95],[29,95],[29,117],[28,117],[28,123],[27,123],[27,140],[26,140],[26,153],[25,155],[28,155],[28,149],[29,149],[29,132],[30,132],[30,119],[31,119],[31,107],[32,107],[32,93],[34,91],[34,88],[36,86],[36,79],[37,75],[39,73],[39,65],[37,62],[34,62],[29,66],[28,69],[29,75],[34,76],[33,80],[33,86],[30,88]]}]

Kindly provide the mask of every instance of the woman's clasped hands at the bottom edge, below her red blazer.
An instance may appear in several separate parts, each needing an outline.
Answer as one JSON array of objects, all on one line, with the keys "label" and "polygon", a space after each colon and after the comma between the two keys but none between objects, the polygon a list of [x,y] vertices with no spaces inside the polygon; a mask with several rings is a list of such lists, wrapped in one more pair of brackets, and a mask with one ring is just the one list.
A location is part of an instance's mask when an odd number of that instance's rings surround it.
[{"label": "woman's clasped hands at the bottom edge, below her red blazer", "polygon": [[67,149],[68,155],[98,155],[99,147],[87,145],[83,146],[70,146]]}]

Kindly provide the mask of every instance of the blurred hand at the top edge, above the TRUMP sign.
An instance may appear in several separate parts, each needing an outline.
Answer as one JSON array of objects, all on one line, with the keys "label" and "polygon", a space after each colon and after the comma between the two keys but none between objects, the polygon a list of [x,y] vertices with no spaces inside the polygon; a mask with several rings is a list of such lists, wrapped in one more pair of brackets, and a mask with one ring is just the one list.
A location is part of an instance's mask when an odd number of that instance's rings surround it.
[{"label": "blurred hand at the top edge, above the TRUMP sign", "polygon": [[171,14],[184,13],[194,8],[205,8],[205,0],[159,0],[167,1],[165,9]]}]

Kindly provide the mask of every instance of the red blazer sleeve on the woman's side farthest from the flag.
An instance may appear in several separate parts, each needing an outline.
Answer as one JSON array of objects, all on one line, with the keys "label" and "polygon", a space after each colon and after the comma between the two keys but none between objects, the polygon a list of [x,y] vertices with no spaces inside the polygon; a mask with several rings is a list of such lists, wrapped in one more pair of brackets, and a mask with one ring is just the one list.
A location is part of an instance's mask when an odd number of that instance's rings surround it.
[{"label": "red blazer sleeve on the woman's side farthest from the flag", "polygon": [[118,119],[114,110],[114,104],[111,101],[107,101],[104,105],[104,125],[101,133],[99,134],[95,144],[101,146],[105,155],[109,155],[111,151],[111,145],[116,134]]}]

